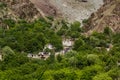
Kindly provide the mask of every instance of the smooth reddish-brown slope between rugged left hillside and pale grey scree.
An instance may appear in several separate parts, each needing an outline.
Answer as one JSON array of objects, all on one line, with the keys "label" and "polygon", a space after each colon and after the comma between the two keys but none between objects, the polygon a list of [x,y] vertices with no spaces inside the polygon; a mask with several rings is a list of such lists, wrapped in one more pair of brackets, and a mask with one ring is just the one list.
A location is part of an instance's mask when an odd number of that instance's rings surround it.
[{"label": "smooth reddish-brown slope between rugged left hillside and pale grey scree", "polygon": [[50,0],[30,0],[43,16],[57,16],[57,8]]}]

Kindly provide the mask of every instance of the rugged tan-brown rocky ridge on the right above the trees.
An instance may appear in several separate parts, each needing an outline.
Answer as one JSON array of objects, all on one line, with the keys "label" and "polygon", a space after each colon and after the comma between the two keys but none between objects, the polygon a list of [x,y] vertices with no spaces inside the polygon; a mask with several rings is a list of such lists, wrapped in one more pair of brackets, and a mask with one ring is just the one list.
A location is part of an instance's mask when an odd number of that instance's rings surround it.
[{"label": "rugged tan-brown rocky ridge on the right above the trees", "polygon": [[104,0],[104,5],[85,24],[88,34],[93,31],[102,32],[105,27],[111,28],[113,32],[120,32],[120,0]]}]

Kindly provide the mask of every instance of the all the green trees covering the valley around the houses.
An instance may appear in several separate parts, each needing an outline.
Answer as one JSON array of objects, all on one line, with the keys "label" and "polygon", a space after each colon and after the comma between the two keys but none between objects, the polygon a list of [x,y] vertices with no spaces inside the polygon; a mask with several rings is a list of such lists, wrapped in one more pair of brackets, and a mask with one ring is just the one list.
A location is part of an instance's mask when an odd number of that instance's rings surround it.
[{"label": "all the green trees covering the valley around the houses", "polygon": [[[39,19],[30,23],[5,20],[5,24],[9,29],[0,27],[0,80],[119,80],[120,34],[109,27],[86,37],[79,22],[59,21],[53,26],[52,21]],[[55,56],[63,49],[62,37],[75,40],[73,50]],[[48,43],[55,51],[47,60],[27,57]]]}]

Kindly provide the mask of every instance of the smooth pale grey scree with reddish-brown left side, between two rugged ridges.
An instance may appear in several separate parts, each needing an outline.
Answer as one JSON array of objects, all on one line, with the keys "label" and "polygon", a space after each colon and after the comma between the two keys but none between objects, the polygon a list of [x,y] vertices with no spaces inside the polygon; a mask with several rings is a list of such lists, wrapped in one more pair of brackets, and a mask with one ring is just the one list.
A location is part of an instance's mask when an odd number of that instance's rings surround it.
[{"label": "smooth pale grey scree with reddish-brown left side, between two rugged ridges", "polygon": [[87,19],[103,4],[103,0],[30,0],[43,15],[60,16],[70,22]]}]

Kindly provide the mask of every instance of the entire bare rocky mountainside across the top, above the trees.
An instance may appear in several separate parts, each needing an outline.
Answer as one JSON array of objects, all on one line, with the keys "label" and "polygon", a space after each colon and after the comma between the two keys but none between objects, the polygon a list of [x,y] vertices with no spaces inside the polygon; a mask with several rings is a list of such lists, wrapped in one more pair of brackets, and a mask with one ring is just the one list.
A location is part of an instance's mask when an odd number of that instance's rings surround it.
[{"label": "entire bare rocky mountainside across the top, above the trees", "polygon": [[0,0],[0,24],[2,19],[32,21],[45,16],[82,22],[93,13],[84,27],[87,33],[101,32],[106,26],[119,32],[120,0],[104,0],[102,5],[102,0]]}]

